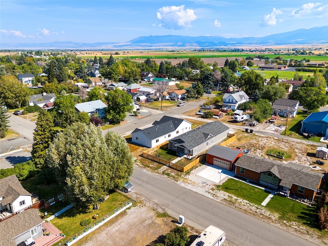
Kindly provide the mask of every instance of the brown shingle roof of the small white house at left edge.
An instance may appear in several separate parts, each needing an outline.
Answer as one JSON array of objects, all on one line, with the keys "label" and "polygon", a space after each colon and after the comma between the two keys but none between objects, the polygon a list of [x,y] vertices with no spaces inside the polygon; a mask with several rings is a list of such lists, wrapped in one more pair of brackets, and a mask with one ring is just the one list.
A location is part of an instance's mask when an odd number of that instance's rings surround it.
[{"label": "brown shingle roof of the small white house at left edge", "polygon": [[0,179],[0,197],[3,197],[0,203],[2,206],[11,204],[20,195],[32,196],[31,193],[23,188],[15,174]]}]

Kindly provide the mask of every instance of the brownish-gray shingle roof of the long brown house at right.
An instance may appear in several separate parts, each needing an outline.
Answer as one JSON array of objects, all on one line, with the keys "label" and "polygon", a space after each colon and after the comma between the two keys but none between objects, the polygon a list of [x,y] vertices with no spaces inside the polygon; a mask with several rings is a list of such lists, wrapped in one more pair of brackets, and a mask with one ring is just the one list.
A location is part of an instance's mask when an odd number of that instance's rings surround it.
[{"label": "brownish-gray shingle roof of the long brown house at right", "polygon": [[309,167],[294,162],[282,163],[255,155],[242,155],[235,163],[254,172],[272,172],[280,181],[280,186],[291,188],[293,183],[311,190],[317,190],[323,174],[309,171]]}]

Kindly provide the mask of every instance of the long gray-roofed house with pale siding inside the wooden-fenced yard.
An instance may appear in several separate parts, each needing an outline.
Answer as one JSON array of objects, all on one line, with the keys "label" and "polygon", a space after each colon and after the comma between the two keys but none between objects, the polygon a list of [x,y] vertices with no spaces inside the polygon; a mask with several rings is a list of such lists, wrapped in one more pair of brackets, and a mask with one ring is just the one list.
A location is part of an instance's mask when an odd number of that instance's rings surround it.
[{"label": "long gray-roofed house with pale siding inside the wooden-fenced yard", "polygon": [[196,156],[228,136],[229,127],[213,121],[169,141],[169,149],[177,154]]}]

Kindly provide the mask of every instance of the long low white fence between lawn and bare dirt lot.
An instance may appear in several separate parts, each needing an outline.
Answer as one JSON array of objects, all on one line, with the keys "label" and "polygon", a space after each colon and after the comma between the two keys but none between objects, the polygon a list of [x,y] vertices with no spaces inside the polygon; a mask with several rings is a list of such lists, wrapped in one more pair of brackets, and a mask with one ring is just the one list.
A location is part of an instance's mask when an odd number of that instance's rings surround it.
[{"label": "long low white fence between lawn and bare dirt lot", "polygon": [[114,209],[113,211],[111,211],[110,213],[108,213],[107,215],[105,215],[104,217],[98,219],[97,221],[93,222],[92,224],[90,224],[85,229],[79,231],[74,236],[70,237],[68,240],[66,240],[65,245],[66,246],[70,246],[73,243],[75,243],[78,240],[80,240],[81,238],[83,238],[84,236],[88,235],[90,232],[96,230],[98,227],[102,226],[104,223],[106,223],[111,218],[114,218],[119,213],[121,213],[124,210],[126,210],[127,208],[131,207],[132,204],[133,204],[133,202],[134,202],[134,200],[133,199],[130,199],[127,202],[123,203],[121,206],[119,206],[118,208]]}]

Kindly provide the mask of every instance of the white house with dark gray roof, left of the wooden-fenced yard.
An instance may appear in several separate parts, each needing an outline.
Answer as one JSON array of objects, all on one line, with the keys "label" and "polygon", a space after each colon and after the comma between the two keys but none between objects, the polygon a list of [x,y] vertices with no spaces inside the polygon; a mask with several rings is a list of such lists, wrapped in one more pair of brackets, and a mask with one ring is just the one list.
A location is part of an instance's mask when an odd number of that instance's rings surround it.
[{"label": "white house with dark gray roof, left of the wooden-fenced yard", "polygon": [[185,119],[163,116],[156,120],[151,127],[135,129],[132,132],[132,142],[152,148],[180,134],[191,130],[191,123]]}]

